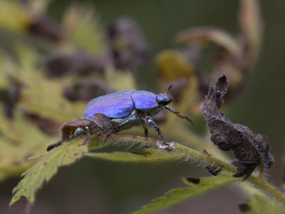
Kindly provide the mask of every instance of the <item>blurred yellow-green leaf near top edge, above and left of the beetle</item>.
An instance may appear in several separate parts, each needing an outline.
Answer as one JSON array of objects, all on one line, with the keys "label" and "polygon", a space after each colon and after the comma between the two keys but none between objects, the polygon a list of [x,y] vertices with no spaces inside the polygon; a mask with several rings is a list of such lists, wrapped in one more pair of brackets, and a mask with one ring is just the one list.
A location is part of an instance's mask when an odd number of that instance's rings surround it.
[{"label": "blurred yellow-green leaf near top edge, above and left of the beetle", "polygon": [[93,55],[105,49],[103,30],[93,6],[73,4],[63,15],[62,26],[66,39],[77,48]]}]

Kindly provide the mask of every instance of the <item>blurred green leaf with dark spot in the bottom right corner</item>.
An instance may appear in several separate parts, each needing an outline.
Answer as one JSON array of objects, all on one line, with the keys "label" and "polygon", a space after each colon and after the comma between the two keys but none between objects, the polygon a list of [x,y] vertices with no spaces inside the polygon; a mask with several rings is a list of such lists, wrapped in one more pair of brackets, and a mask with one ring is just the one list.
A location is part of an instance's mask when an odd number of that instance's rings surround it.
[{"label": "blurred green leaf with dark spot in the bottom right corner", "polygon": [[247,200],[247,203],[239,205],[239,209],[247,214],[282,214],[285,213],[284,208],[276,201],[270,201],[262,195],[254,195],[254,199]]}]

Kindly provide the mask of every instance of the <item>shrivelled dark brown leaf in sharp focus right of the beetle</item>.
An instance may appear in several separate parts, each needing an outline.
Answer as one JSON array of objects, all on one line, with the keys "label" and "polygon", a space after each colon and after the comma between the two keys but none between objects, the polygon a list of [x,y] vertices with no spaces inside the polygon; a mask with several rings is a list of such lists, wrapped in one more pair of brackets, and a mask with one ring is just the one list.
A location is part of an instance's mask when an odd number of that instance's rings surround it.
[{"label": "shrivelled dark brown leaf in sharp focus right of the beetle", "polygon": [[258,165],[270,168],[274,158],[269,153],[269,141],[262,134],[254,134],[247,126],[232,123],[224,119],[218,109],[224,102],[228,88],[227,77],[222,75],[215,85],[211,84],[201,105],[206,117],[211,141],[222,151],[232,150],[237,158],[233,165],[237,167],[234,177],[244,176],[246,180]]}]

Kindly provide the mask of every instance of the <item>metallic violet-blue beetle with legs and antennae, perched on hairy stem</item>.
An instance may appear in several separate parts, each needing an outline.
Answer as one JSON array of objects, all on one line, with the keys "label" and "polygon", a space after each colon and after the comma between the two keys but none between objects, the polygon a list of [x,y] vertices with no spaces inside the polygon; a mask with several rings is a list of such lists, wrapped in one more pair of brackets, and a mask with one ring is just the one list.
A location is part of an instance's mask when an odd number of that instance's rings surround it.
[{"label": "metallic violet-blue beetle with legs and antennae, perched on hairy stem", "polygon": [[142,125],[145,129],[145,136],[148,136],[148,124],[155,128],[155,131],[160,135],[164,146],[169,146],[165,143],[160,128],[158,128],[152,116],[159,113],[163,108],[175,113],[180,118],[185,118],[192,123],[190,118],[182,116],[179,112],[168,106],[172,101],[177,101],[173,98],[168,88],[167,93],[155,94],[148,91],[125,90],[115,93],[110,93],[105,96],[94,98],[86,106],[84,117],[88,119],[95,118],[95,113],[103,113],[110,118],[114,126],[114,131],[120,131],[132,126]]}]

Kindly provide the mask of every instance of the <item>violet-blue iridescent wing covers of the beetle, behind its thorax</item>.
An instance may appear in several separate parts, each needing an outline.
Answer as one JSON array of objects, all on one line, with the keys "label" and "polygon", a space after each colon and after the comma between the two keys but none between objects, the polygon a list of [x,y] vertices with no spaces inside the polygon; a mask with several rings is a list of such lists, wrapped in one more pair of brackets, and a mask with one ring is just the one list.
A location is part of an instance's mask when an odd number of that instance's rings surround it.
[{"label": "violet-blue iridescent wing covers of the beetle, behind its thorax", "polygon": [[95,113],[103,113],[109,118],[125,118],[129,116],[134,109],[133,100],[130,97],[130,94],[134,91],[119,91],[93,99],[87,104],[84,117],[92,119]]}]

